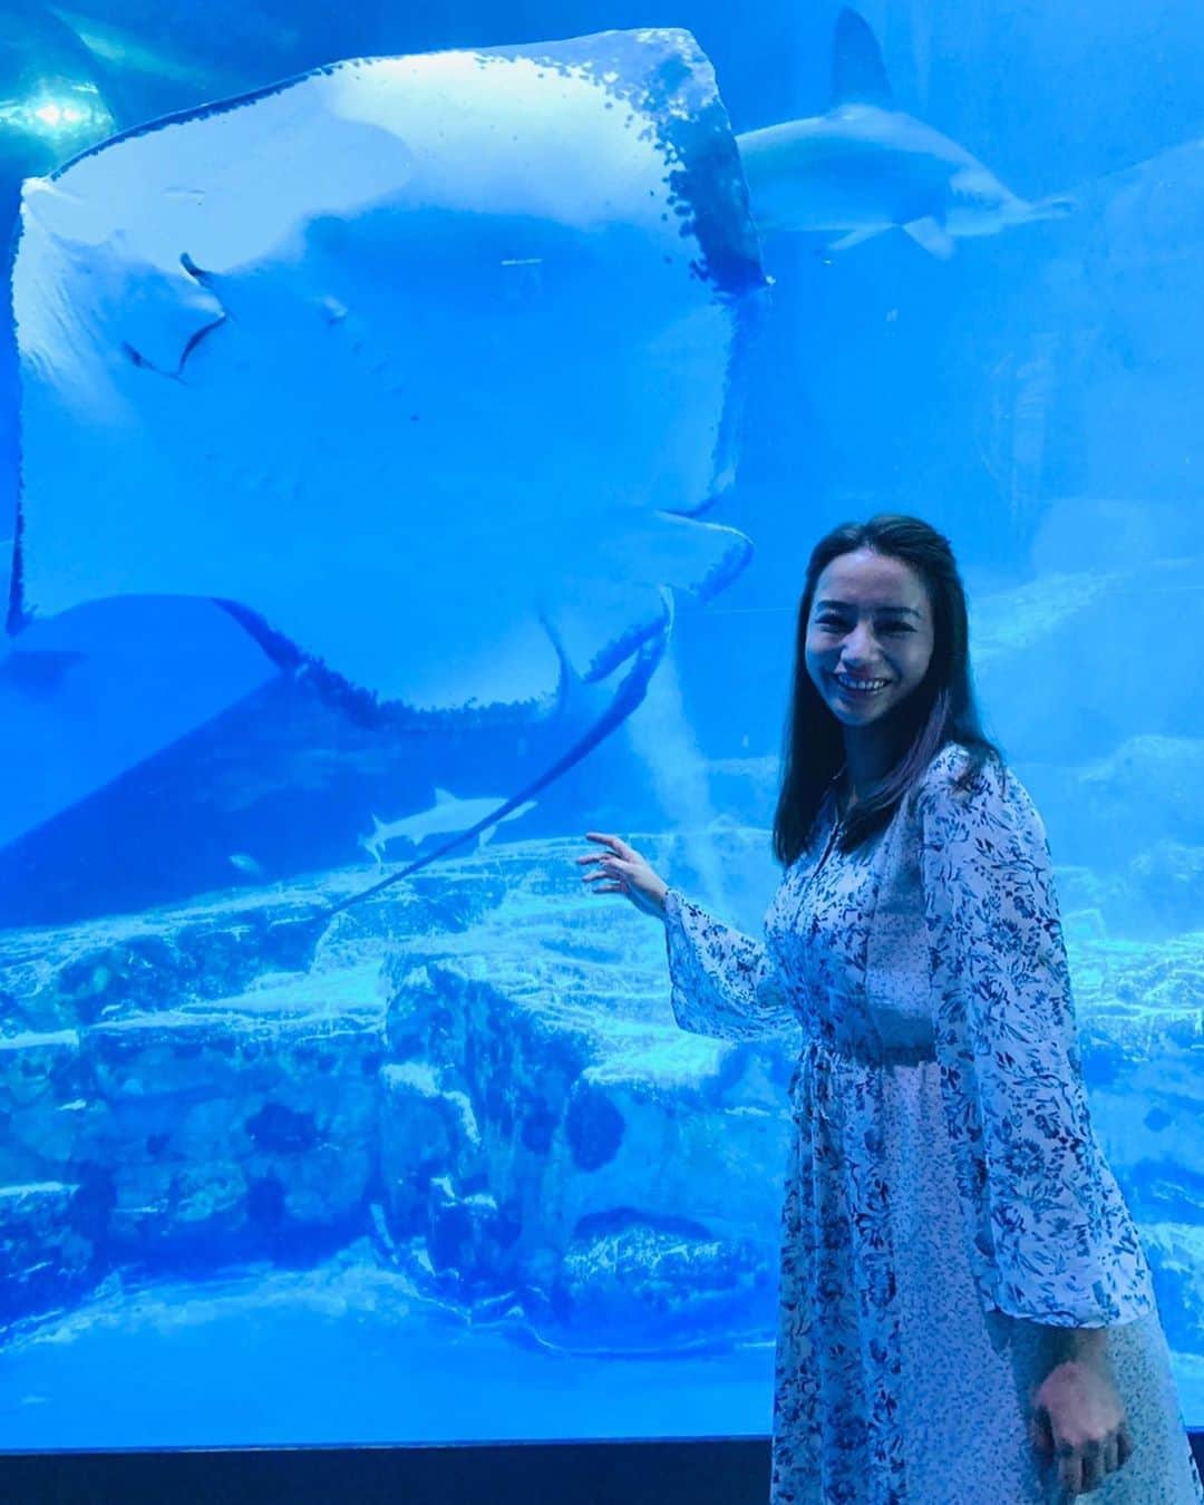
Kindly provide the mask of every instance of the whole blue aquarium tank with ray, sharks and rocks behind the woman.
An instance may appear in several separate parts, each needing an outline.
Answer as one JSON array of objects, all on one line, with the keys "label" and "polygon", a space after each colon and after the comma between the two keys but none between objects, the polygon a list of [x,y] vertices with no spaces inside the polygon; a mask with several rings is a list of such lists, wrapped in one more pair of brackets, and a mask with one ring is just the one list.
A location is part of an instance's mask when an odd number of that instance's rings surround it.
[{"label": "whole blue aquarium tank with ray, sharks and rocks behind the woman", "polygon": [[1186,0],[0,6],[0,1449],[769,1431],[796,1041],[573,859],[759,932],[876,512],[1204,1425],[1202,71]]}]

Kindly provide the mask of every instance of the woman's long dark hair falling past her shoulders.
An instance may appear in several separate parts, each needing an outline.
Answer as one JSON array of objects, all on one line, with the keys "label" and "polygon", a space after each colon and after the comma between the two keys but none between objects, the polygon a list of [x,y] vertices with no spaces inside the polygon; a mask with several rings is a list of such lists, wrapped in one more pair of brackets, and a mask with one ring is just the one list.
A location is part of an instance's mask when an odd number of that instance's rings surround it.
[{"label": "woman's long dark hair falling past her shoulders", "polygon": [[880,512],[868,522],[843,522],[814,546],[799,599],[781,795],[774,817],[774,855],[786,865],[807,846],[828,786],[844,763],[840,722],[807,673],[807,623],[820,575],[834,558],[855,549],[901,560],[920,575],[933,616],[933,649],[924,679],[898,707],[908,718],[908,749],[849,813],[840,850],[850,852],[889,822],[947,742],[969,748],[968,765],[957,780],[962,787],[974,780],[987,757],[1004,765],[1002,752],[983,731],[974,698],[966,591],[948,539],[920,518],[894,512]]}]

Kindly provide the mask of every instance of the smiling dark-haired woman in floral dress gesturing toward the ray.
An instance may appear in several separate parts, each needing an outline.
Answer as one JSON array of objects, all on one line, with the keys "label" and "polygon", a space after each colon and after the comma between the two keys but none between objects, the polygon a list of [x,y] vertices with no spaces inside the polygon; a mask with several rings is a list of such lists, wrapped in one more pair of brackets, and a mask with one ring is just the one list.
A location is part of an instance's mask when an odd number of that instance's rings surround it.
[{"label": "smiling dark-haired woman in floral dress gesturing toward the ray", "polygon": [[685,1029],[802,1025],[775,1505],[1204,1500],[1150,1269],[1094,1138],[1040,816],[983,734],[947,539],[816,546],[760,944],[619,837]]}]

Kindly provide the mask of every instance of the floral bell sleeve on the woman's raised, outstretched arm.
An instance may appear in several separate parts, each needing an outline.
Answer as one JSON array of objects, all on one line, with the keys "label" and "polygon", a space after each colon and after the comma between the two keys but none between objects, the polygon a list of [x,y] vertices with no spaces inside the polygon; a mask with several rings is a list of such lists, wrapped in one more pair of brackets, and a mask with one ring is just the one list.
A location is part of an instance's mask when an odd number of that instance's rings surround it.
[{"label": "floral bell sleeve on the woman's raised, outstretched arm", "polygon": [[713,920],[676,888],[665,894],[664,918],[673,1016],[682,1029],[759,1040],[798,1025],[762,941]]}]

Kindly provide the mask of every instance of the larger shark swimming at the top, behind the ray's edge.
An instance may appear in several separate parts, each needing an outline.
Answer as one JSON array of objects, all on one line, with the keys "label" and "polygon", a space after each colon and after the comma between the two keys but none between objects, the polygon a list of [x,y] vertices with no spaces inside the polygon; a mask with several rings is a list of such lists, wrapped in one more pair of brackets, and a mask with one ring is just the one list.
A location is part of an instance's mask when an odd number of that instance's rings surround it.
[{"label": "larger shark swimming at the top, behind the ray's edge", "polygon": [[840,12],[823,114],[736,137],[757,229],[817,232],[846,251],[903,230],[948,259],[959,239],[1072,214],[1066,196],[1022,199],[965,146],[895,105],[865,20]]}]

